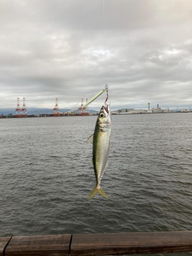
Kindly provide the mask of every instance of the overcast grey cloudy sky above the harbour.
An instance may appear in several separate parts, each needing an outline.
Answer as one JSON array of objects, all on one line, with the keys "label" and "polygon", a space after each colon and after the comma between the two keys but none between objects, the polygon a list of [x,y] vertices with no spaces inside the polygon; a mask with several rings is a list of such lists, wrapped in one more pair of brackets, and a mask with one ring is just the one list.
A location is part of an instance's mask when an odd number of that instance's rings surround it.
[{"label": "overcast grey cloudy sky above the harbour", "polygon": [[0,0],[0,108],[76,108],[106,83],[113,110],[192,107],[192,0]]}]

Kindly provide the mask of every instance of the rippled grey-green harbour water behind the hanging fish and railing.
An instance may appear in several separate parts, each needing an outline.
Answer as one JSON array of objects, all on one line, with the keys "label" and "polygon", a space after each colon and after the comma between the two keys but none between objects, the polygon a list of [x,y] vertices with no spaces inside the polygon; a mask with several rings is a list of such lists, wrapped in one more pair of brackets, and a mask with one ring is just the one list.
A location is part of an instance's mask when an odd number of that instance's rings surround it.
[{"label": "rippled grey-green harbour water behind the hanging fish and railing", "polygon": [[192,113],[112,116],[109,200],[87,201],[95,122],[0,120],[0,236],[192,230]]}]

